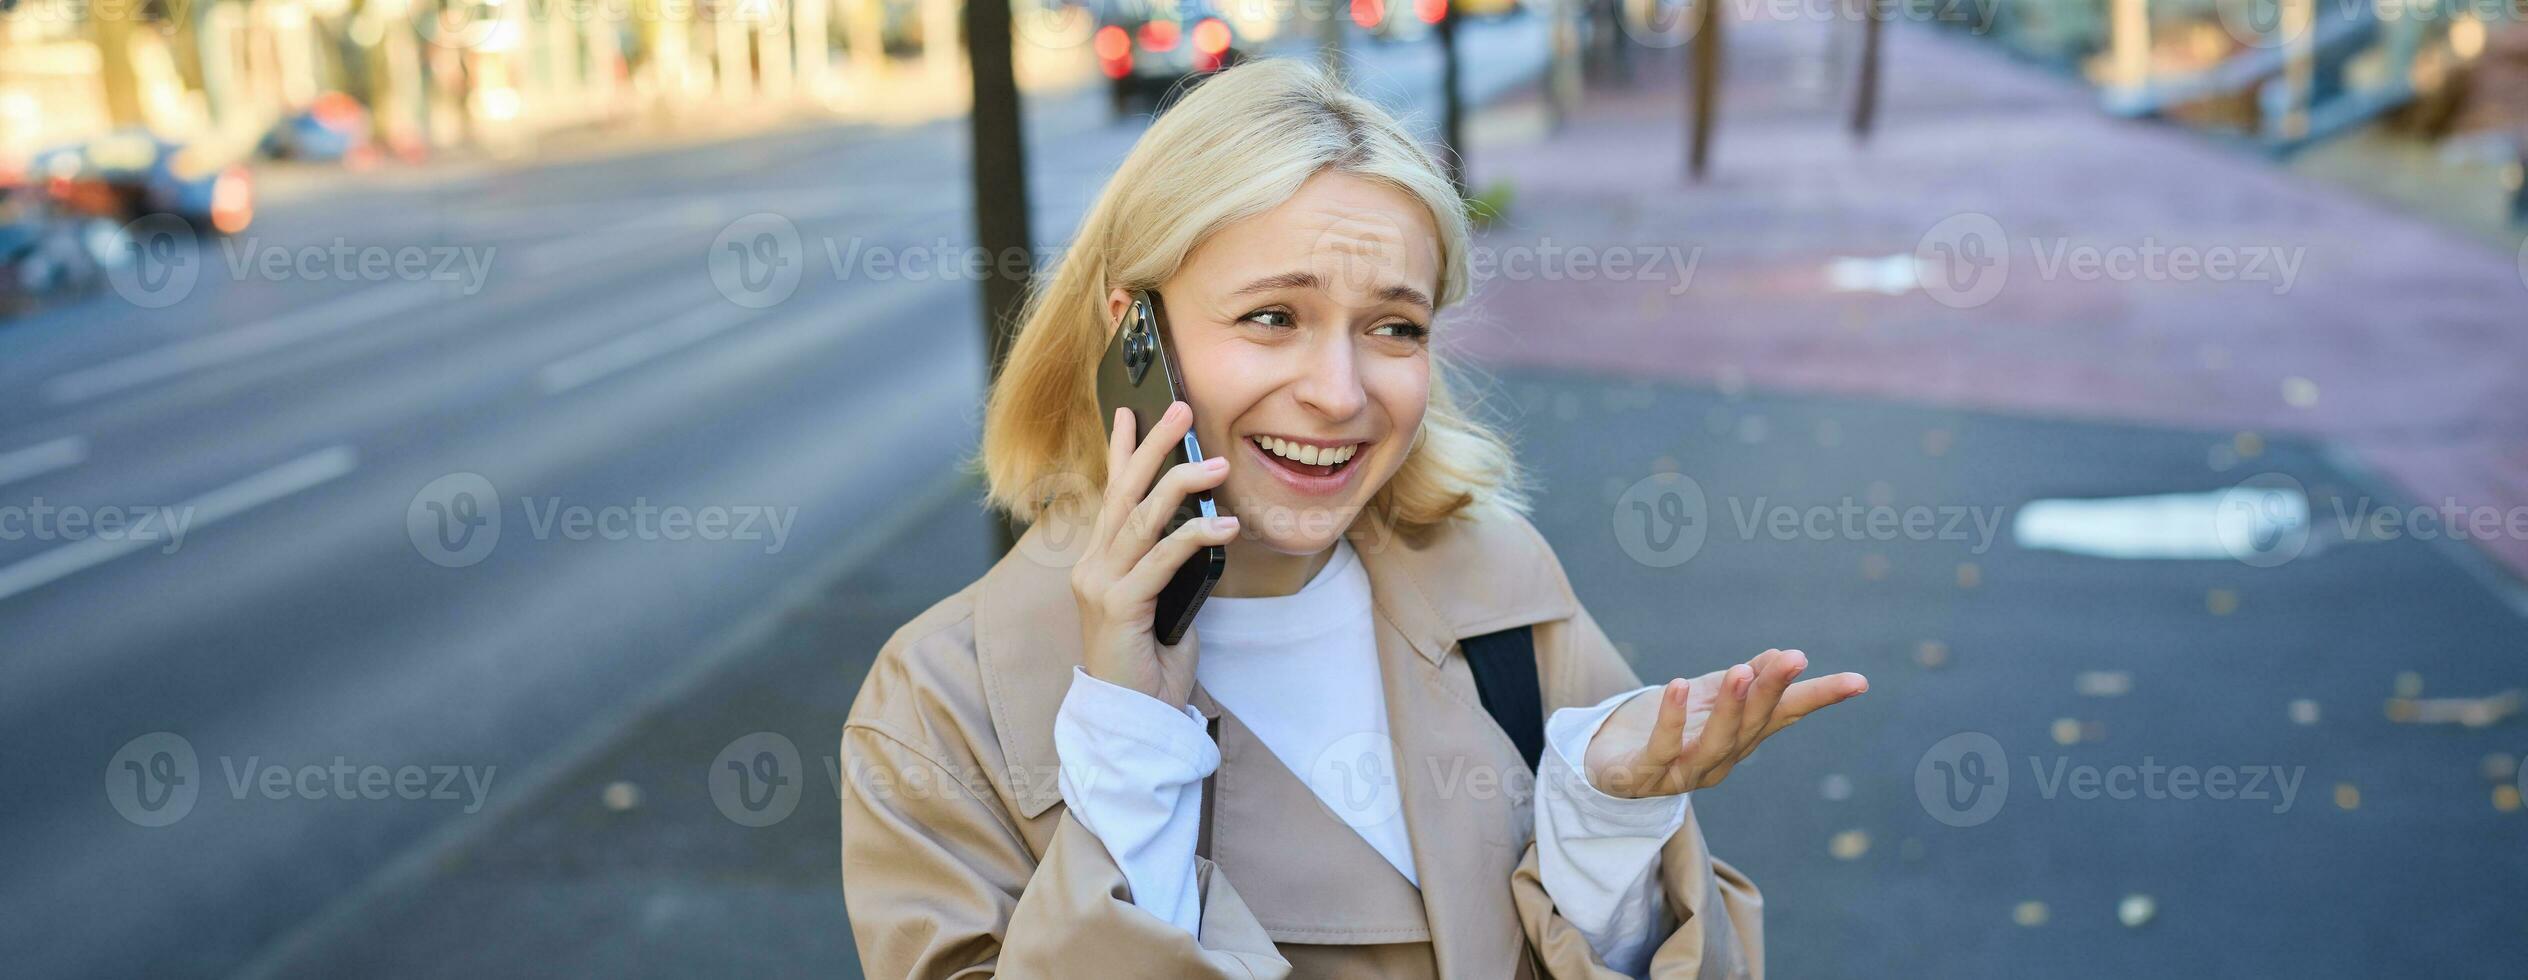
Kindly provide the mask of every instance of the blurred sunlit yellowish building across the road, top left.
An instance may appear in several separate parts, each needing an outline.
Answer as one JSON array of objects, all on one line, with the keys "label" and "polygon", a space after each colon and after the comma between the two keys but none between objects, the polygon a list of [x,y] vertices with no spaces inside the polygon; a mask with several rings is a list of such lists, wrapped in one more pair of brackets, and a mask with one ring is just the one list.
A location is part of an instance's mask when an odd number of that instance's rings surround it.
[{"label": "blurred sunlit yellowish building across the road, top left", "polygon": [[[1064,45],[1021,48],[1044,76]],[[303,114],[374,134],[354,162],[503,152],[890,99],[895,76],[963,96],[938,86],[961,73],[956,0],[0,0],[0,164],[131,126],[250,152]]]}]

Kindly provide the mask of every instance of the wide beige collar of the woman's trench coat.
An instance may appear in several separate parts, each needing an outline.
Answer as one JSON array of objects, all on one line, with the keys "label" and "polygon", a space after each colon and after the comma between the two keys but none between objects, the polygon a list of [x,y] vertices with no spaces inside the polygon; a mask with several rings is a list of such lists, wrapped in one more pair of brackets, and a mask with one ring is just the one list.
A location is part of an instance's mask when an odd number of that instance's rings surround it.
[{"label": "wide beige collar of the woman's trench coat", "polygon": [[[1365,508],[1345,538],[1370,576],[1385,626],[1380,647],[1403,642],[1431,667],[1441,667],[1461,636],[1577,611],[1545,538],[1517,513],[1474,505],[1408,538],[1378,508]],[[1079,543],[1077,528],[1039,520],[983,573],[973,599],[976,662],[1006,760],[996,775],[1006,778],[1004,791],[1026,818],[1062,801],[1049,773],[1057,770],[1054,712],[1082,659],[1079,606],[1069,591]]]}]

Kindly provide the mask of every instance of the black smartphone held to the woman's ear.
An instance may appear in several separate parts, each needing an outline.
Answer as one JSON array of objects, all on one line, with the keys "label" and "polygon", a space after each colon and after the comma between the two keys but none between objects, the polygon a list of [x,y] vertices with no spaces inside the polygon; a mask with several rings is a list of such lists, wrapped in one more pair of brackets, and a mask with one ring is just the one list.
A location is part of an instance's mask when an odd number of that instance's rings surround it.
[{"label": "black smartphone held to the woman's ear", "polygon": [[[1115,323],[1115,338],[1107,341],[1105,359],[1097,361],[1097,407],[1105,414],[1107,439],[1115,437],[1115,409],[1133,409],[1133,445],[1140,447],[1150,437],[1150,427],[1158,424],[1158,417],[1168,412],[1168,402],[1193,404],[1186,397],[1186,376],[1178,374],[1176,359],[1168,354],[1168,308],[1158,301],[1155,290],[1135,290],[1133,306]],[[1186,427],[1183,445],[1168,450],[1168,460],[1158,465],[1158,472],[1165,475],[1168,467],[1193,460],[1203,460],[1203,442],[1193,437],[1193,427]],[[1158,485],[1158,480],[1150,485]],[[1135,493],[1135,498],[1148,495],[1148,485]],[[1186,520],[1218,518],[1224,513],[1211,490],[1196,490],[1176,505],[1176,515],[1168,518],[1160,538],[1183,528]],[[1196,551],[1183,568],[1176,568],[1176,578],[1168,578],[1168,586],[1158,591],[1158,616],[1150,621],[1150,634],[1168,647],[1186,639],[1186,629],[1193,629],[1193,614],[1203,609],[1203,599],[1211,596],[1211,586],[1221,581],[1221,571],[1226,568],[1229,548],[1203,546]]]}]

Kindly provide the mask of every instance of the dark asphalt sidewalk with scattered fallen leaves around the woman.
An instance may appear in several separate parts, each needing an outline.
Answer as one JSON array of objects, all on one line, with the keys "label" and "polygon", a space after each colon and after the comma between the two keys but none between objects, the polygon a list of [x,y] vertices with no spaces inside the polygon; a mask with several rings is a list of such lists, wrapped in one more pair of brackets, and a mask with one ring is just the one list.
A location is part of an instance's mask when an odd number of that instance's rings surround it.
[{"label": "dark asphalt sidewalk with scattered fallen leaves around the woman", "polygon": [[[2225,432],[1550,369],[1489,391],[1537,475],[1537,528],[1638,674],[1797,647],[1871,677],[1694,798],[1714,854],[1765,892],[1767,975],[2495,977],[2528,957],[2520,816],[2482,773],[2518,725],[2381,712],[2404,672],[2432,695],[2518,682],[2515,591],[2488,589],[2482,556],[2313,538],[2255,566],[2022,541],[2030,500],[2225,485],[2202,467]],[[2404,505],[2323,445],[2275,439],[2255,465],[2321,513]],[[1671,475],[1696,482],[1684,515],[1704,533],[1661,546],[1631,503]],[[988,568],[973,493],[870,528],[887,561],[258,975],[857,977],[834,735],[887,634]],[[1886,541],[1767,518],[1833,525],[1848,500],[1942,518]],[[769,738],[796,750],[771,773],[796,793],[756,806],[708,778]]]}]

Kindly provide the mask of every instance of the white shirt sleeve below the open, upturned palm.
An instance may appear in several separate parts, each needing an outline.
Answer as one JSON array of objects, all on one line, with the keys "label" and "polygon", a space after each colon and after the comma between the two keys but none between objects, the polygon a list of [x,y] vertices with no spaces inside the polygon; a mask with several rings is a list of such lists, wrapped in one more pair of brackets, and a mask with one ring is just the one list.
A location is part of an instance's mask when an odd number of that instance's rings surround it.
[{"label": "white shirt sleeve below the open, upturned palm", "polygon": [[1686,826],[1686,793],[1626,801],[1590,786],[1588,743],[1633,695],[1565,707],[1545,722],[1537,760],[1537,871],[1555,909],[1610,970],[1643,977],[1674,929],[1658,894],[1658,851]]}]

